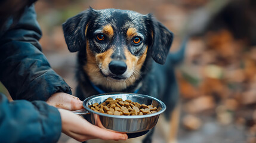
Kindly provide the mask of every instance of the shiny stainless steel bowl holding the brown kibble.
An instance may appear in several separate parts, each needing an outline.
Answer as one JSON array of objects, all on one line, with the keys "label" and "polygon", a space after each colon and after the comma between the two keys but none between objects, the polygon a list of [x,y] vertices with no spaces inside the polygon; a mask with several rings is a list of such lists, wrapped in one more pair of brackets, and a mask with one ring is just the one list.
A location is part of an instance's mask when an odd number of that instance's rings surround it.
[{"label": "shiny stainless steel bowl holding the brown kibble", "polygon": [[[104,102],[107,98],[122,98],[122,100],[131,100],[140,104],[153,105],[153,107],[161,107],[162,110],[157,113],[141,115],[141,116],[116,116],[104,113],[98,113],[88,108],[88,105],[98,102]],[[161,113],[166,110],[164,102],[142,94],[101,94],[88,97],[84,100],[85,110],[91,113],[91,120],[94,125],[110,130],[115,130],[124,133],[138,133],[152,129],[158,122]]]}]

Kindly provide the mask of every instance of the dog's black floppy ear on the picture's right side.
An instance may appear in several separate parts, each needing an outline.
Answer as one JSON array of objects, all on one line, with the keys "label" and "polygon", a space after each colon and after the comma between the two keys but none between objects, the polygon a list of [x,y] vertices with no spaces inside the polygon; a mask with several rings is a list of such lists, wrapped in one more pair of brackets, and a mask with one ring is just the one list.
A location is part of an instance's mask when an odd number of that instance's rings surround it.
[{"label": "dog's black floppy ear on the picture's right side", "polygon": [[156,63],[164,64],[166,57],[171,48],[173,33],[170,32],[162,23],[152,17],[147,16],[147,24],[149,24],[149,53]]}]

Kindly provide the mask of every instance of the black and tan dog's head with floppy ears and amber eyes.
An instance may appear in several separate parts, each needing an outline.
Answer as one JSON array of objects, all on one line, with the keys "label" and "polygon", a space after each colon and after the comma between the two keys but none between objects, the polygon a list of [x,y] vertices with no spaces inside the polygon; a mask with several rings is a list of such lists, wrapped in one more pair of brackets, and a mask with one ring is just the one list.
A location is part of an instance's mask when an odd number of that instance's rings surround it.
[{"label": "black and tan dog's head with floppy ears and amber eyes", "polygon": [[164,64],[172,33],[151,14],[127,10],[83,11],[63,23],[70,52],[86,52],[84,70],[95,85],[120,91],[140,78],[147,55]]}]

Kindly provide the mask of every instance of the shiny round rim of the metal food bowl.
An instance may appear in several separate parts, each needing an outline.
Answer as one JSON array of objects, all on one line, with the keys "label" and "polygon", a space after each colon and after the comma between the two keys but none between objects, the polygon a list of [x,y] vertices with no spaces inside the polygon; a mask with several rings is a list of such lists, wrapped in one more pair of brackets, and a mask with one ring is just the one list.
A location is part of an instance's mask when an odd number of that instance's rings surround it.
[{"label": "shiny round rim of the metal food bowl", "polygon": [[[91,101],[93,98],[97,98],[97,97],[101,97],[104,95],[119,95],[119,94],[128,94],[128,95],[138,95],[141,97],[147,97],[147,98],[151,98],[152,100],[155,100],[157,102],[159,102],[159,105],[161,105],[162,110],[156,112],[156,113],[152,113],[152,114],[146,114],[146,115],[136,115],[136,116],[121,116],[121,115],[110,115],[110,114],[104,114],[104,113],[98,113],[94,110],[91,110],[90,108],[87,107],[87,103],[89,101]],[[107,94],[97,94],[97,95],[92,95],[91,97],[88,97],[84,100],[83,102],[84,108],[94,114],[98,114],[100,116],[106,116],[106,117],[112,117],[112,118],[119,118],[119,119],[143,119],[146,117],[153,117],[153,116],[159,116],[160,114],[164,113],[164,111],[166,110],[166,105],[164,104],[164,102],[162,102],[161,100],[158,100],[155,97],[151,97],[149,95],[144,95],[144,94],[133,94],[133,93],[125,93],[125,92],[115,92],[115,93],[107,93]]]}]

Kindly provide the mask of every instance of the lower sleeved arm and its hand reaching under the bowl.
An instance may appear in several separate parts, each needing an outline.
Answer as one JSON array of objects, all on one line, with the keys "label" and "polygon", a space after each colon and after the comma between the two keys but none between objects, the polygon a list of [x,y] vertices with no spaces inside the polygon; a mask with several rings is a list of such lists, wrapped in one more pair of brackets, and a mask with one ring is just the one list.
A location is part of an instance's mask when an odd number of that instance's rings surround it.
[{"label": "lower sleeved arm and its hand reaching under the bowl", "polygon": [[0,94],[0,142],[57,142],[61,131],[78,141],[128,138],[125,133],[101,129],[81,116],[44,101],[10,102]]}]

